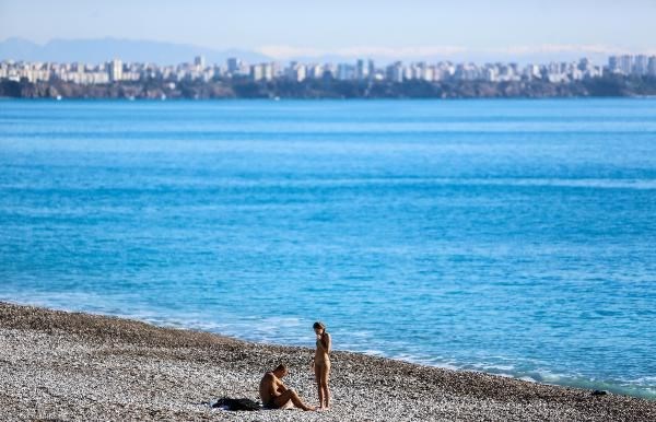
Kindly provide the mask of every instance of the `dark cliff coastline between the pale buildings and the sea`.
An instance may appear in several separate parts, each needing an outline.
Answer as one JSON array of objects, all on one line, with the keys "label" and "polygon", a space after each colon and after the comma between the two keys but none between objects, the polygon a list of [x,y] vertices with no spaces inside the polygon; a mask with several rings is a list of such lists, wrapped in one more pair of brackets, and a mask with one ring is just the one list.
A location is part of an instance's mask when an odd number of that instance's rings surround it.
[{"label": "dark cliff coastline between the pale buildings and the sea", "polygon": [[340,81],[336,79],[251,81],[161,80],[78,84],[66,81],[0,80],[0,97],[11,98],[554,98],[656,96],[656,77],[605,75],[570,83],[548,81]]}]

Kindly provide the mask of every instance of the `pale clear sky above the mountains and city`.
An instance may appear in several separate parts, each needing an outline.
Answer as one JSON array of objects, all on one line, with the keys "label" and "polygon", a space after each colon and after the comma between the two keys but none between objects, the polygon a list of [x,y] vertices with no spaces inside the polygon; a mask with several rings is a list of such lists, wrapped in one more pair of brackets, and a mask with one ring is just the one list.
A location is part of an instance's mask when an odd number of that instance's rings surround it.
[{"label": "pale clear sky above the mountains and city", "polygon": [[116,37],[295,57],[656,55],[656,0],[0,0],[0,40]]}]

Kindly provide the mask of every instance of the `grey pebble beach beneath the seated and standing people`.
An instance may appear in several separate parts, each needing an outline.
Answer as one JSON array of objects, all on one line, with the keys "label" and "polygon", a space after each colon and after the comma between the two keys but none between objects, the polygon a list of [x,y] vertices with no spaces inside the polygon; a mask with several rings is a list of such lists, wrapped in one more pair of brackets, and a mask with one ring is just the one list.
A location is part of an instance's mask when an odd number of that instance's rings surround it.
[{"label": "grey pebble beach beneath the seated and standing people", "polygon": [[0,303],[0,414],[8,421],[654,421],[656,402],[336,351],[328,411],[226,411],[259,400],[279,363],[317,405],[305,348]]}]

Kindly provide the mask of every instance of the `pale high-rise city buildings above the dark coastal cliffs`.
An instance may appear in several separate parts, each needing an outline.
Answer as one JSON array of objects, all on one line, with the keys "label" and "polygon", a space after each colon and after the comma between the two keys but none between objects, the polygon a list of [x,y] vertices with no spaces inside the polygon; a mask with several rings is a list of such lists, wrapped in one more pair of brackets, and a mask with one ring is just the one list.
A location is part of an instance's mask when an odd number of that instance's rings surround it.
[{"label": "pale high-rise city buildings above the dark coastal cliffs", "polygon": [[63,81],[82,85],[95,85],[120,82],[177,82],[201,81],[245,81],[270,82],[285,80],[304,82],[305,80],[360,81],[367,83],[407,81],[424,81],[440,83],[444,81],[485,81],[485,82],[530,82],[535,80],[550,83],[570,83],[582,80],[601,78],[605,74],[655,78],[656,55],[610,56],[607,66],[594,65],[582,58],[577,62],[529,63],[520,67],[517,63],[454,63],[425,61],[406,65],[395,61],[385,67],[376,67],[374,60],[358,59],[356,63],[303,63],[279,61],[248,63],[238,57],[230,57],[224,65],[210,63],[200,55],[194,62],[185,60],[175,66],[157,66],[152,62],[124,62],[114,58],[102,63],[90,65],[74,62],[30,62],[0,61],[0,82],[50,82]]}]

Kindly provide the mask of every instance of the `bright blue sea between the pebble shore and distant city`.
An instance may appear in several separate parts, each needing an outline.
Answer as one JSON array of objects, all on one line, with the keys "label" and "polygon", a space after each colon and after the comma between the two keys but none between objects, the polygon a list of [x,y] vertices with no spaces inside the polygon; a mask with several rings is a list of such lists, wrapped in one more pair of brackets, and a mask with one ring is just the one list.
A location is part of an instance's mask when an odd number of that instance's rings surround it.
[{"label": "bright blue sea between the pebble shore and distant city", "polygon": [[0,300],[656,398],[656,101],[0,101]]}]

